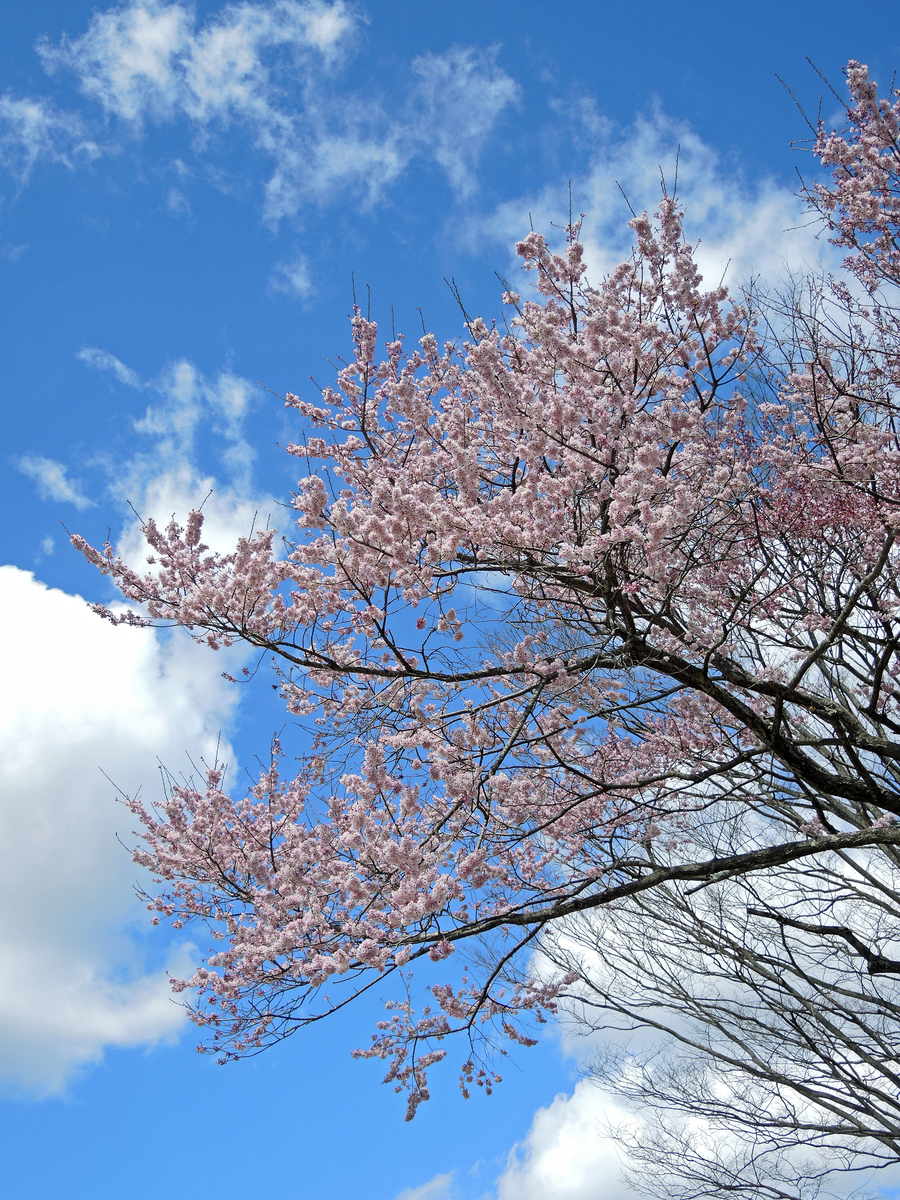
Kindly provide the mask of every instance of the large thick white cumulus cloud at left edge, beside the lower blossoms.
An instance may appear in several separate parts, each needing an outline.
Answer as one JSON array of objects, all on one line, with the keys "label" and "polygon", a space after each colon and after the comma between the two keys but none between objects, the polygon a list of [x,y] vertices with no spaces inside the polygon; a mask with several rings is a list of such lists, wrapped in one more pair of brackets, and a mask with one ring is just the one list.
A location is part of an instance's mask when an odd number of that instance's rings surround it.
[{"label": "large thick white cumulus cloud at left edge, beside the lower blossoms", "polygon": [[157,758],[175,772],[187,752],[211,760],[234,695],[222,660],[186,636],[113,628],[12,566],[0,631],[0,1080],[47,1094],[104,1046],[181,1026],[164,972],[130,935],[146,914],[116,840],[133,840],[134,821],[113,785],[152,799]]}]

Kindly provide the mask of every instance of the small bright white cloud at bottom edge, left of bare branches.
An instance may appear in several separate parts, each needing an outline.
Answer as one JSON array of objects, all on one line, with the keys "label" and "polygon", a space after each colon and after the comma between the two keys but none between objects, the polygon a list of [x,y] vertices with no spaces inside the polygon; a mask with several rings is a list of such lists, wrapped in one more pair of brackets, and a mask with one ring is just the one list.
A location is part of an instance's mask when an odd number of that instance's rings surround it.
[{"label": "small bright white cloud at bottom edge, left of bare branches", "polygon": [[497,1200],[634,1200],[610,1127],[635,1118],[589,1080],[538,1109],[497,1181]]}]

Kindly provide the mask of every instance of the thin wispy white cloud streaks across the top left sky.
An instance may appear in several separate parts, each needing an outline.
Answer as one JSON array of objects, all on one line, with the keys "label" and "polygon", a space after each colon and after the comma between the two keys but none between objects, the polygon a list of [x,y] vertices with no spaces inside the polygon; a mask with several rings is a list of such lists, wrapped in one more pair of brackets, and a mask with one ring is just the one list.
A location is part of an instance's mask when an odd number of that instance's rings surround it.
[{"label": "thin wispy white cloud streaks across the top left sky", "polygon": [[[271,224],[348,187],[373,204],[415,158],[437,162],[458,196],[470,194],[484,148],[518,98],[497,48],[422,55],[390,98],[364,96],[342,73],[362,22],[344,0],[244,0],[200,24],[180,0],[130,0],[95,12],[78,37],[42,38],[37,50],[49,74],[74,78],[112,120],[107,136],[181,122],[211,168],[233,144],[222,134],[242,130],[270,163],[263,210]],[[89,113],[59,113],[44,100],[4,103],[0,161],[23,180],[41,157],[71,164],[77,149],[101,152],[84,133]],[[186,204],[170,193],[173,211]]]}]

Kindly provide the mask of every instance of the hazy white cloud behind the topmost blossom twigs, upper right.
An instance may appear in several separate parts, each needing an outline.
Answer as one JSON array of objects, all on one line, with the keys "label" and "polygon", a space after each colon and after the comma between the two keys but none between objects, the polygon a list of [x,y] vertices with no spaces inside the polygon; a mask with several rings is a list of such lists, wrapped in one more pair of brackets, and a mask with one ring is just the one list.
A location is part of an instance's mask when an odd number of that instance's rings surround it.
[{"label": "hazy white cloud behind the topmost blossom twigs, upper right", "polygon": [[[576,215],[584,212],[582,240],[593,277],[628,256],[628,204],[637,212],[653,211],[661,174],[667,187],[674,187],[676,162],[688,238],[698,242],[696,258],[709,286],[722,277],[734,286],[754,276],[776,283],[788,271],[806,274],[836,262],[834,248],[816,236],[817,227],[787,187],[770,179],[748,182],[684,122],[656,110],[619,130],[589,104],[575,106],[574,112],[578,137],[590,148],[589,167],[572,179],[571,190]],[[564,223],[568,210],[569,191],[560,181],[499,205],[475,236],[509,245],[528,230],[529,222],[550,235],[552,226]]]}]

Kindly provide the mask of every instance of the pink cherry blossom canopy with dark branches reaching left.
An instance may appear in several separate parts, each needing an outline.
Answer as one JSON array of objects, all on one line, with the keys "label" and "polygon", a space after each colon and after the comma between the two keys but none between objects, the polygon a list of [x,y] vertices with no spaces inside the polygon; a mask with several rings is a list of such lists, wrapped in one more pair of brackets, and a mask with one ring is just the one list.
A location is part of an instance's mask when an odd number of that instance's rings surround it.
[{"label": "pink cherry blossom canopy with dark branches reaching left", "polygon": [[[550,925],[900,846],[900,101],[847,78],[806,193],[841,278],[708,289],[670,196],[601,282],[577,224],[533,233],[500,325],[380,358],[358,312],[336,386],[288,395],[287,540],[150,521],[144,572],[74,539],[146,618],[106,616],[260,648],[314,731],[246,797],[214,768],[132,804],[151,905],[221,940],[176,986],[226,1056],[395,972],[360,1052],[412,1114],[448,1033],[527,1042],[577,986],[529,970]],[[409,965],[470,938],[419,1010]],[[496,1079],[473,1050],[463,1088]]]}]

